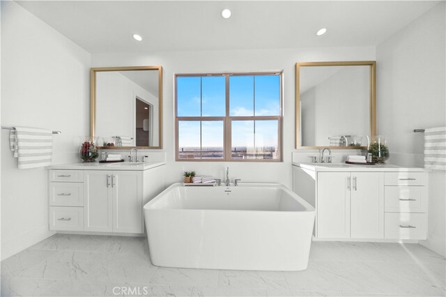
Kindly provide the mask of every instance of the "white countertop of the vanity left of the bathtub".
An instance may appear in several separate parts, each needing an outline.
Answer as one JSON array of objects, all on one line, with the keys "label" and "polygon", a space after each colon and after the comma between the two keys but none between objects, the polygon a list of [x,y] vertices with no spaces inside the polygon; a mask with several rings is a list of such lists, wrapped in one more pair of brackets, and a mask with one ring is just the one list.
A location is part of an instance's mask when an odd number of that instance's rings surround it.
[{"label": "white countertop of the vanity left of the bathtub", "polygon": [[165,165],[166,162],[116,162],[116,163],[70,163],[48,167],[48,169],[69,169],[69,170],[147,170]]}]

